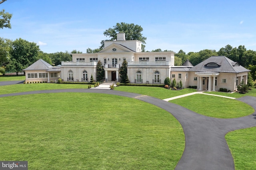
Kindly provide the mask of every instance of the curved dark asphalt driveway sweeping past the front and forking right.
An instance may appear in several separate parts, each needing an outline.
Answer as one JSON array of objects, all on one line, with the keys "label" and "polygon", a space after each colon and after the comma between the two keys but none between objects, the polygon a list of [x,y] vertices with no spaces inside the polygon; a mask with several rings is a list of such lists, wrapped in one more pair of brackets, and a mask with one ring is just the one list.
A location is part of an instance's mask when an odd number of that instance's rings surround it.
[{"label": "curved dark asphalt driveway sweeping past the front and forking right", "polygon": [[[216,119],[199,115],[184,107],[154,97],[105,89],[42,90],[5,94],[0,97],[62,92],[104,93],[131,97],[151,103],[171,113],[182,125],[186,138],[185,150],[175,170],[234,170],[234,160],[226,143],[225,134],[232,130],[256,126],[256,112],[236,119]],[[237,100],[248,103],[256,110],[256,97],[245,96]]]}]

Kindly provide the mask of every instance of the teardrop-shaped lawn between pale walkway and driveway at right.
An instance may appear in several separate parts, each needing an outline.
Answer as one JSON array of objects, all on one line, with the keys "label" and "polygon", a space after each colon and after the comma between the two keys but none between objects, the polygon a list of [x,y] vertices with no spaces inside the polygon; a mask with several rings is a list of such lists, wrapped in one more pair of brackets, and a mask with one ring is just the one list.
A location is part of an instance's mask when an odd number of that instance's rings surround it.
[{"label": "teardrop-shaped lawn between pale walkway and driveway at right", "polygon": [[250,105],[241,101],[203,94],[182,97],[170,102],[201,115],[223,119],[244,117],[254,113]]}]

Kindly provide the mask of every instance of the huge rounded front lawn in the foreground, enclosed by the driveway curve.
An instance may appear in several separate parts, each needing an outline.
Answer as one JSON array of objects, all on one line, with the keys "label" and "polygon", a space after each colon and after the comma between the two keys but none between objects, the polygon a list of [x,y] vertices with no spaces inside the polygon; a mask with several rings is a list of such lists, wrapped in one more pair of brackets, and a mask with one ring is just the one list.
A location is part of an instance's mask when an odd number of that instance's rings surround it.
[{"label": "huge rounded front lawn in the foreground, enclosed by the driveway curve", "polygon": [[180,123],[136,99],[50,93],[0,103],[0,160],[33,170],[174,169],[184,150]]}]

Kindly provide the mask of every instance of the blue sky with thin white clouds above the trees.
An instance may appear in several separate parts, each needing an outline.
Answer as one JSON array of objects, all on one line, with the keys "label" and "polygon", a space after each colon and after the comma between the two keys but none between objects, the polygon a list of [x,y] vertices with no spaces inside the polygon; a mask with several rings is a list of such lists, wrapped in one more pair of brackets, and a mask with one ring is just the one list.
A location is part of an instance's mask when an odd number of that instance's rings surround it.
[{"label": "blue sky with thin white clouds above the trees", "polygon": [[256,51],[255,0],[7,0],[12,29],[0,37],[36,42],[46,53],[95,49],[116,23],[143,28],[146,50],[186,53],[231,45]]}]

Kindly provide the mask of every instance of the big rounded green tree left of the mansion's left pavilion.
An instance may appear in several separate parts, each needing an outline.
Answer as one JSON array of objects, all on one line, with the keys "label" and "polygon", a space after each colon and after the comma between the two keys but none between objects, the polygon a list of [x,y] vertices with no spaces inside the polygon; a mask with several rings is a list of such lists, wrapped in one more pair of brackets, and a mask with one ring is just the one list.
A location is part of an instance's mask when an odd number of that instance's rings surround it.
[{"label": "big rounded green tree left of the mansion's left pavilion", "polygon": [[8,68],[10,71],[21,72],[22,69],[28,67],[36,60],[38,60],[39,45],[34,42],[28,42],[21,38],[12,42],[12,49],[10,50],[11,58]]}]

